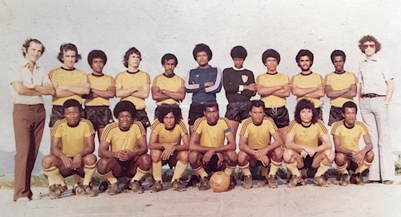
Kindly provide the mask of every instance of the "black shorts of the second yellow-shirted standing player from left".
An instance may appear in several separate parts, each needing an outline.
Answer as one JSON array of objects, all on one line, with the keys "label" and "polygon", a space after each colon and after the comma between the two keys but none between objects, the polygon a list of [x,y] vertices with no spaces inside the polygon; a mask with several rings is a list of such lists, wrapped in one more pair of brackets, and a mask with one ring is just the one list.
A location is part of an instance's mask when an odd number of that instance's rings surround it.
[{"label": "black shorts of the second yellow-shirted standing player from left", "polygon": [[85,114],[95,130],[114,122],[109,106],[85,106]]}]

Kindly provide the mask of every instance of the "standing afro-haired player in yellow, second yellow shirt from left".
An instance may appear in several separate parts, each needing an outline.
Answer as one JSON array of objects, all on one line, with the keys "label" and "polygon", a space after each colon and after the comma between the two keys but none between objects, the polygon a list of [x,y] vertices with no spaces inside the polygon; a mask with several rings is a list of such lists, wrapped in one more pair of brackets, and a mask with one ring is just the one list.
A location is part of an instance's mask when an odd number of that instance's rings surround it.
[{"label": "standing afro-haired player in yellow, second yellow shirt from left", "polygon": [[88,63],[92,74],[88,74],[91,90],[85,98],[85,114],[89,119],[100,141],[104,127],[113,122],[113,115],[109,109],[109,98],[115,95],[114,78],[103,74],[103,67],[107,62],[106,54],[100,50],[93,50],[88,54]]}]

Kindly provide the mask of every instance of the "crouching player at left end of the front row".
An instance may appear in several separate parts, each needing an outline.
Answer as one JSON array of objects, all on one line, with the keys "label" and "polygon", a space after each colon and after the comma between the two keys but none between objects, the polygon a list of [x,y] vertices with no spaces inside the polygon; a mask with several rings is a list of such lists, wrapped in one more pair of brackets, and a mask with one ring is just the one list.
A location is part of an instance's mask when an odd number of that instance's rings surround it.
[{"label": "crouching player at left end of the front row", "polygon": [[74,183],[73,193],[96,196],[91,180],[96,171],[94,135],[91,121],[80,118],[81,104],[69,99],[63,104],[64,117],[51,131],[50,154],[43,157],[43,171],[49,178],[49,197],[57,199],[67,190],[63,177],[77,174],[83,182]]}]

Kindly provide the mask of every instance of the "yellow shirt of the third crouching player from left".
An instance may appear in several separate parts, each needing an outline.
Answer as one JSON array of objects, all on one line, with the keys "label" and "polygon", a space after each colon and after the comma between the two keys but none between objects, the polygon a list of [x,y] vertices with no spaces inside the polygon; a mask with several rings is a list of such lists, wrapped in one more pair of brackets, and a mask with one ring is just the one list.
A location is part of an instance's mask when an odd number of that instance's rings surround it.
[{"label": "yellow shirt of the third crouching player from left", "polygon": [[177,143],[180,145],[181,138],[183,135],[188,134],[184,121],[180,120],[173,129],[168,130],[164,127],[164,123],[160,122],[159,119],[152,124],[150,127],[152,133],[158,135],[159,143]]}]

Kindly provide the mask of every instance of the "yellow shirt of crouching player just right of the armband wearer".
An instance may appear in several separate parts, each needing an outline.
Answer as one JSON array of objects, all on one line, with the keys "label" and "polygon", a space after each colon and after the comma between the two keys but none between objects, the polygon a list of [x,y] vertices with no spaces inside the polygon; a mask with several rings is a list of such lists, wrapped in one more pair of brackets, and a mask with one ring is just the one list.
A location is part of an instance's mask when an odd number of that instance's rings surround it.
[{"label": "yellow shirt of crouching player just right of the armband wearer", "polygon": [[263,117],[262,123],[255,125],[252,117],[249,117],[241,122],[239,135],[248,139],[247,143],[251,149],[261,149],[270,145],[271,135],[277,130],[277,126],[271,118]]}]

